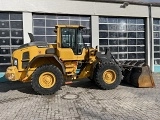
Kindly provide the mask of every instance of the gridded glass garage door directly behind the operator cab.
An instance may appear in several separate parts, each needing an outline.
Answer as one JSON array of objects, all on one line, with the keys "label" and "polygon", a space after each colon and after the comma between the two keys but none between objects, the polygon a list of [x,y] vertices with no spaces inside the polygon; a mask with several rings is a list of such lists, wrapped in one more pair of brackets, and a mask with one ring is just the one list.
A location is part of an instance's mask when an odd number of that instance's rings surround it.
[{"label": "gridded glass garage door directly behind the operator cab", "polygon": [[90,17],[56,14],[33,14],[33,31],[36,41],[54,43],[56,34],[55,25],[83,25],[86,27],[83,35],[86,44],[90,44]]}]

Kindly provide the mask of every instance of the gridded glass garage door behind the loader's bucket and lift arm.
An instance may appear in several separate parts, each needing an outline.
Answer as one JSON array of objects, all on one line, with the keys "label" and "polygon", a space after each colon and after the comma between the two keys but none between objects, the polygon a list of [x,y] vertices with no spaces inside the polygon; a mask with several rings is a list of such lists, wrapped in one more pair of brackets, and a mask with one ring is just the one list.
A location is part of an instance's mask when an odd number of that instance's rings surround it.
[{"label": "gridded glass garage door behind the loader's bucket and lift arm", "polygon": [[145,23],[140,18],[99,17],[99,49],[115,59],[145,61]]}]

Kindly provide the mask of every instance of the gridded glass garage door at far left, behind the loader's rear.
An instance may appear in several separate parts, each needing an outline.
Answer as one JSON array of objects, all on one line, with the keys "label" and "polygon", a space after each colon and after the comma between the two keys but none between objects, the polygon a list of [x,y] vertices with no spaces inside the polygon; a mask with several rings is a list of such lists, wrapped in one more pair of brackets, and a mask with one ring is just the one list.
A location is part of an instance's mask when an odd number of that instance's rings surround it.
[{"label": "gridded glass garage door at far left, behind the loader's rear", "polygon": [[23,44],[22,13],[0,12],[0,72],[11,65],[11,54]]}]

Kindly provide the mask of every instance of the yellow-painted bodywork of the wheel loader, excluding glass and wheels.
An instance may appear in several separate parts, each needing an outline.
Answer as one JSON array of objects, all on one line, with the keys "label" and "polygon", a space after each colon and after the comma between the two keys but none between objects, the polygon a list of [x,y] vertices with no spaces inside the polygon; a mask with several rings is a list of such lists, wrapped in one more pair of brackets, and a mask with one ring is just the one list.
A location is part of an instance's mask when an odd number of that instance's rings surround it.
[{"label": "yellow-painted bodywork of the wheel loader, excluding glass and wheels", "polygon": [[[36,70],[37,67],[45,64],[54,64],[59,67],[61,71],[62,67],[58,61],[60,61],[65,68],[64,71],[64,78],[69,80],[74,80],[77,78],[87,78],[91,75],[91,67],[92,63],[96,61],[95,52],[97,49],[82,49],[82,53],[79,55],[75,55],[71,48],[62,48],[61,47],[61,28],[80,28],[81,26],[78,25],[57,25],[56,33],[57,39],[56,43],[48,44],[45,46],[29,46],[18,49],[14,51],[12,58],[16,58],[18,60],[18,65],[11,66],[6,71],[6,78],[11,81],[23,81],[28,82],[30,81],[31,75]],[[46,55],[46,50],[49,48],[54,48],[55,53],[54,55],[58,58],[55,59],[52,57],[52,54]],[[91,52],[92,51],[92,52]],[[23,59],[23,53],[28,52],[29,58]],[[40,57],[39,57],[40,56]],[[49,57],[48,57],[49,56]],[[34,58],[36,60],[31,64],[28,64],[26,68],[22,67],[22,62],[28,61],[30,63]],[[87,60],[86,66],[81,70],[79,75],[76,75],[77,65],[79,61]],[[12,63],[13,65],[13,63]],[[14,76],[14,77],[12,77]]]}]

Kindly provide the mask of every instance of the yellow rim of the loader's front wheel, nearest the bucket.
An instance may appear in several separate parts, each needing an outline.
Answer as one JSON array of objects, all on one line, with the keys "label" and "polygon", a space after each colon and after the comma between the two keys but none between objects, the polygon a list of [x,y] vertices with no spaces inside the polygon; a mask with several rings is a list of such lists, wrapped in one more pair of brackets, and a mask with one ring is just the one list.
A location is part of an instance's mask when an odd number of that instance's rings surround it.
[{"label": "yellow rim of the loader's front wheel, nearest the bucket", "polygon": [[115,82],[116,80],[116,73],[113,70],[106,70],[103,73],[103,80],[107,83],[107,84],[112,84]]}]

